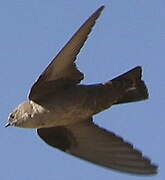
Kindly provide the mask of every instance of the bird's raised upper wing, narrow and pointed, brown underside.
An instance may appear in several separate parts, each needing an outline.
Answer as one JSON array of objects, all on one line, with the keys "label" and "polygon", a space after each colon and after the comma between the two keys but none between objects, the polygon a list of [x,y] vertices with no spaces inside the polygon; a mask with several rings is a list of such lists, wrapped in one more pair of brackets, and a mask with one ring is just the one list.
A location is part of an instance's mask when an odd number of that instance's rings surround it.
[{"label": "bird's raised upper wing, narrow and pointed, brown underside", "polygon": [[31,88],[30,100],[35,101],[39,98],[38,96],[48,94],[52,90],[55,91],[61,86],[77,84],[84,78],[74,61],[103,8],[104,6],[101,6],[85,21],[40,75]]}]

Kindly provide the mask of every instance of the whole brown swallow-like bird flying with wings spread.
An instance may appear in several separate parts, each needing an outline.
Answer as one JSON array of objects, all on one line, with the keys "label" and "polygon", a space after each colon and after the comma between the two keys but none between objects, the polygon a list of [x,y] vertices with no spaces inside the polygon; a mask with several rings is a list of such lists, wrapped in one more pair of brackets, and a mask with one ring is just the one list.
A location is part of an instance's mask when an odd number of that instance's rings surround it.
[{"label": "whole brown swallow-like bird flying with wings spread", "polygon": [[34,128],[48,145],[118,172],[154,175],[158,166],[119,135],[99,127],[93,116],[117,104],[148,99],[142,67],[104,83],[81,84],[76,56],[104,6],[71,37],[30,89],[28,100],[9,114],[8,126]]}]

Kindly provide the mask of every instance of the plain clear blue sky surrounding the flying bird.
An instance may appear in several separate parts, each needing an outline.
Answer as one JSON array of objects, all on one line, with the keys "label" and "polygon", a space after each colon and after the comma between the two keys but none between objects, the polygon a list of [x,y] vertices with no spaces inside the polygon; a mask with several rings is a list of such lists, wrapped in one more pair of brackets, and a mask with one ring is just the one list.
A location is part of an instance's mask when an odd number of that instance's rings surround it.
[{"label": "plain clear blue sky surrounding the flying bird", "polygon": [[[108,170],[47,146],[35,130],[4,128],[8,113],[80,25],[105,5],[77,64],[83,83],[96,83],[141,65],[150,99],[95,116],[159,165],[143,177]],[[0,179],[162,180],[165,178],[165,1],[0,1]]]}]

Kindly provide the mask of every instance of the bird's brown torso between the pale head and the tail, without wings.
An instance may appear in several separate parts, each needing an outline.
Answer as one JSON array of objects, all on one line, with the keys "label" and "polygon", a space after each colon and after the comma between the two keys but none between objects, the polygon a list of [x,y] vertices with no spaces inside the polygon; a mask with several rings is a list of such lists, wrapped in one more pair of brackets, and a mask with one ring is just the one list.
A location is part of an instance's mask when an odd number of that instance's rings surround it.
[{"label": "bird's brown torso between the pale head and the tail, without wings", "polygon": [[79,85],[47,97],[42,107],[48,111],[37,114],[37,122],[42,127],[63,126],[91,117],[109,106],[107,100],[101,102],[102,89],[102,85]]}]

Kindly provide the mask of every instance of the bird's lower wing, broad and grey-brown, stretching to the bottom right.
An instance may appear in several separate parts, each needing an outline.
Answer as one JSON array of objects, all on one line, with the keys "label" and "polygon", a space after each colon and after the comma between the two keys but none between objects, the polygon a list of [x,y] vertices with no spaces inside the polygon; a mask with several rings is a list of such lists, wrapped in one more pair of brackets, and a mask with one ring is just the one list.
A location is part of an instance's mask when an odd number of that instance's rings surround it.
[{"label": "bird's lower wing, broad and grey-brown, stretching to the bottom right", "polygon": [[118,171],[155,174],[157,166],[121,137],[108,132],[91,120],[70,126],[37,129],[50,146]]}]

